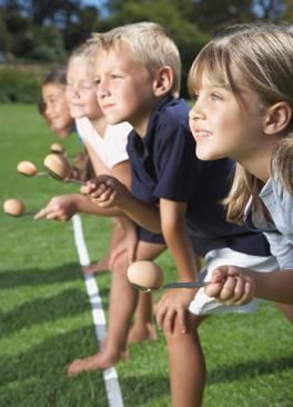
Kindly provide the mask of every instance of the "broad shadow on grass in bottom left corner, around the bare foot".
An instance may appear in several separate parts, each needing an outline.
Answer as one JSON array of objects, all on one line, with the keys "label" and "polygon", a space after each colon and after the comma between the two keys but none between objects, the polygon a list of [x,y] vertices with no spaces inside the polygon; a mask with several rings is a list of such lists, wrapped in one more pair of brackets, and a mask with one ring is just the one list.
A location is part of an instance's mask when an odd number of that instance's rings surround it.
[{"label": "broad shadow on grass in bottom left corner, around the bare foot", "polygon": [[[97,351],[92,327],[59,335],[16,357],[0,358],[0,405],[6,407],[107,407],[101,371],[67,376],[67,366]],[[168,375],[168,374],[166,374]],[[169,394],[168,377],[119,378],[125,406],[142,406]]]}]

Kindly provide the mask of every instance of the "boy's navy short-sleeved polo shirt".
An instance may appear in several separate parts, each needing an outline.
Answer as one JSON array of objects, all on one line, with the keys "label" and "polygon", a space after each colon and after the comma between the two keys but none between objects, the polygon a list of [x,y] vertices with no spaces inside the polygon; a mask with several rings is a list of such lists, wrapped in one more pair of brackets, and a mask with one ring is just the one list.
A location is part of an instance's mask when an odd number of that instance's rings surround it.
[{"label": "boy's navy short-sleeved polo shirt", "polygon": [[143,138],[130,132],[133,196],[148,204],[159,204],[160,198],[188,202],[186,225],[198,255],[229,247],[269,256],[262,234],[225,220],[221,201],[230,190],[234,162],[198,159],[188,115],[186,102],[169,96],[153,111]]}]

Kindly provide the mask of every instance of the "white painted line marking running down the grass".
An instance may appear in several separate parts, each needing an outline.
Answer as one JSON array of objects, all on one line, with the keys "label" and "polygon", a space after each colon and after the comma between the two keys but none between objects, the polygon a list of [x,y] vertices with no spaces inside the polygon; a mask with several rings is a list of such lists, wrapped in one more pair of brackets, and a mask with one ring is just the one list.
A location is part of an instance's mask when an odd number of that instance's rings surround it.
[{"label": "white painted line marking running down the grass", "polygon": [[[82,231],[81,218],[77,214],[72,217],[73,234],[77,251],[79,255],[79,261],[81,266],[90,265],[90,257],[87,249],[85,240]],[[99,347],[101,348],[102,343],[107,336],[107,321],[105,315],[102,308],[102,299],[99,294],[99,287],[94,277],[84,275],[84,284],[87,287],[89,300],[92,307],[92,317],[95,328],[95,336],[98,339]],[[110,367],[103,370],[103,379],[105,384],[107,397],[109,406],[111,407],[123,407],[122,393],[120,389],[117,369]]]}]

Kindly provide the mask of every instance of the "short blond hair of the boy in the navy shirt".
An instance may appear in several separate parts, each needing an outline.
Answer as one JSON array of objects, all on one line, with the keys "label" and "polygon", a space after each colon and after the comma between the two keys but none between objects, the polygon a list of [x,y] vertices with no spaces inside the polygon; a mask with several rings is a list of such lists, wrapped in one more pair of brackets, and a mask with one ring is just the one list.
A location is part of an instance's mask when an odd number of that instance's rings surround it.
[{"label": "short blond hair of the boy in the navy shirt", "polygon": [[133,59],[154,75],[162,67],[170,67],[174,75],[171,93],[178,96],[181,85],[181,59],[176,44],[164,29],[155,22],[137,22],[117,27],[108,32],[97,32],[88,40],[89,46],[120,49],[129,47]]}]

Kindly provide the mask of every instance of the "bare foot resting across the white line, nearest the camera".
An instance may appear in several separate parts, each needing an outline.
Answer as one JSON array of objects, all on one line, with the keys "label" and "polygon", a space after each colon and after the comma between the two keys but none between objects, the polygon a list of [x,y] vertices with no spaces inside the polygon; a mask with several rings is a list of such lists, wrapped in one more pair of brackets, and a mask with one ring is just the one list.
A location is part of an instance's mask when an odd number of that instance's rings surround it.
[{"label": "bare foot resting across the white line, nearest the camera", "polygon": [[98,369],[107,369],[114,366],[118,361],[128,359],[128,351],[123,351],[118,356],[117,354],[110,355],[102,350],[99,354],[90,356],[84,359],[75,359],[68,367],[68,375],[74,376],[82,371],[92,371]]}]

